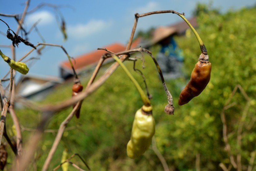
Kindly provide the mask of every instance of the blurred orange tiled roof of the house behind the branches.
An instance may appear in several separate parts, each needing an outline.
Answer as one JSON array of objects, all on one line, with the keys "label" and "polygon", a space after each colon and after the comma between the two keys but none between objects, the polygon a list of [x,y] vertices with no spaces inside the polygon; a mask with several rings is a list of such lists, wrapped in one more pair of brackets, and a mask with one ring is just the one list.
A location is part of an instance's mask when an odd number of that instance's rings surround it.
[{"label": "blurred orange tiled roof of the house behind the branches", "polygon": [[[124,51],[126,49],[126,46],[120,44],[120,43],[113,43],[111,45],[102,47],[107,50],[110,50],[114,53]],[[75,68],[75,70],[79,73],[79,70],[83,70],[83,68],[90,66],[90,65],[95,65],[97,62],[100,60],[101,56],[105,54],[105,50],[94,50],[92,52],[83,54],[81,56],[78,56],[72,60],[72,64]],[[70,66],[69,61],[64,61],[61,62],[60,66],[62,68],[65,68],[65,70],[70,70],[72,71],[72,68]]]}]

